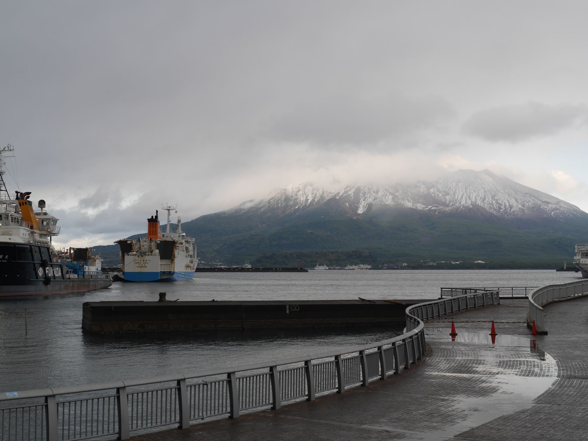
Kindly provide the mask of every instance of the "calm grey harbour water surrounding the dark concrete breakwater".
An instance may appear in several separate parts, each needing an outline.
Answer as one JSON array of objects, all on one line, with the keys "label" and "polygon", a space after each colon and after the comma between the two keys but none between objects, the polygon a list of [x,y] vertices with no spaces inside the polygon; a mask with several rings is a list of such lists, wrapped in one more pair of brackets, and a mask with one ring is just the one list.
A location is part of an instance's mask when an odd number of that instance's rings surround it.
[{"label": "calm grey harbour water surrounding the dark concrete breakwater", "polygon": [[[116,282],[86,294],[0,299],[0,392],[188,372],[327,351],[399,335],[397,328],[216,332],[202,335],[82,334],[82,303],[174,300],[435,299],[440,287],[563,283],[555,271],[310,271],[197,274],[192,281]],[[24,310],[28,314],[25,335]]]}]

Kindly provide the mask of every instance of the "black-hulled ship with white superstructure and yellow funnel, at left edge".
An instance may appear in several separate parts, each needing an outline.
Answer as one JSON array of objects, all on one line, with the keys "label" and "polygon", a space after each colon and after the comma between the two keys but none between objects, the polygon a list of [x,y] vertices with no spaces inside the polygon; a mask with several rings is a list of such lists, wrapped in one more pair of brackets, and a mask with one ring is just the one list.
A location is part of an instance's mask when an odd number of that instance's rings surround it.
[{"label": "black-hulled ship with white superstructure and yellow funnel, at left edge", "polygon": [[5,158],[14,147],[0,149],[0,297],[62,294],[108,288],[102,261],[92,248],[52,245],[59,235],[59,219],[46,211],[44,200],[34,210],[30,191],[12,197],[4,182]]}]

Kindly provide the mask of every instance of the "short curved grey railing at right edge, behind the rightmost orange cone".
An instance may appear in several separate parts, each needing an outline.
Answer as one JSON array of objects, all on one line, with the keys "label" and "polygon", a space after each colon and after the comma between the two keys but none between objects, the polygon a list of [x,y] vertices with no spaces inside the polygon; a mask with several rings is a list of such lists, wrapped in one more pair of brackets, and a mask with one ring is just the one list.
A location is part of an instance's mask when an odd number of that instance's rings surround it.
[{"label": "short curved grey railing at right edge, behind the rightmost orange cone", "polygon": [[532,328],[533,321],[539,334],[547,334],[547,321],[543,305],[551,302],[569,300],[588,294],[588,280],[545,285],[534,289],[529,294],[529,312],[527,312],[527,326]]}]

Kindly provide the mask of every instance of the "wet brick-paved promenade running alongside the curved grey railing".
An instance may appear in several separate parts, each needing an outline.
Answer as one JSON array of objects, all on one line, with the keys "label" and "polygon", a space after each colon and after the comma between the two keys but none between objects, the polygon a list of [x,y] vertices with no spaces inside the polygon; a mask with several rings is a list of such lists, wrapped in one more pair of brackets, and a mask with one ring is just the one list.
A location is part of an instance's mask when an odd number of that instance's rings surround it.
[{"label": "wet brick-paved promenade running alongside the curved grey railing", "polygon": [[[588,298],[547,306],[545,360],[512,323],[524,321],[526,300],[502,303],[455,314],[455,342],[450,323],[427,324],[423,361],[386,381],[132,440],[588,439]],[[510,322],[496,323],[494,345],[489,319]]]}]

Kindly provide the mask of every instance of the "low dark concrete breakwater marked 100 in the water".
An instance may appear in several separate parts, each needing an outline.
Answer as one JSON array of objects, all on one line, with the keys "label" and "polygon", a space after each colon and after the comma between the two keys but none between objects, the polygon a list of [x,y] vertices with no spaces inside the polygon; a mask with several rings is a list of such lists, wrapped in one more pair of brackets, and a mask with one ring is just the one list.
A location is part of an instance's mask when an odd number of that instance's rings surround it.
[{"label": "low dark concrete breakwater marked 100 in the water", "polygon": [[428,300],[85,302],[82,329],[84,332],[101,334],[390,325],[405,322],[406,308],[426,301]]}]

